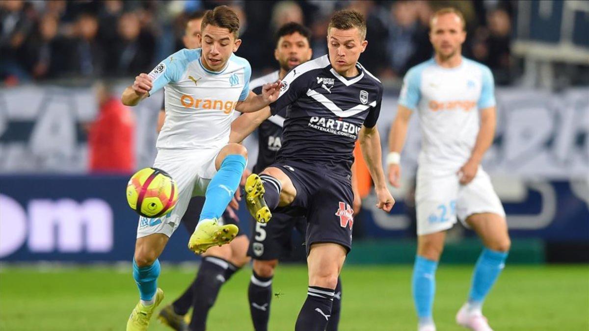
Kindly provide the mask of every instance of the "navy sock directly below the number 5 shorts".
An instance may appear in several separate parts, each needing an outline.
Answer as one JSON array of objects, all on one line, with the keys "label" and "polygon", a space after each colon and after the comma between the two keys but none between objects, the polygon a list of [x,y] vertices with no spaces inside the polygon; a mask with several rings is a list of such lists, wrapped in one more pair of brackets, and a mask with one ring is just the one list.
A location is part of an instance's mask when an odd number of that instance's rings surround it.
[{"label": "navy sock directly below the number 5 shorts", "polygon": [[254,330],[267,331],[270,319],[270,300],[272,300],[272,277],[260,277],[253,272],[247,289],[250,313]]}]

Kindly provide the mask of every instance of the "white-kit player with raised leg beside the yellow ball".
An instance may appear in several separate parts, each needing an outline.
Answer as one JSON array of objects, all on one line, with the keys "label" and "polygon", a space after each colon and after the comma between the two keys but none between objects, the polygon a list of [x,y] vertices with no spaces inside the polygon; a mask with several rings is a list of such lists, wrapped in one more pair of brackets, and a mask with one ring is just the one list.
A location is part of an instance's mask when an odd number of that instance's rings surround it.
[{"label": "white-kit player with raised leg beside the yellow ball", "polygon": [[276,100],[279,84],[266,84],[261,95],[249,90],[252,69],[237,57],[239,18],[227,6],[207,11],[201,24],[202,48],[182,49],[140,74],[123,92],[125,105],[137,105],[165,87],[166,121],[157,140],[154,167],[176,181],[178,201],[166,216],[141,217],[133,259],[133,277],[140,302],[127,322],[127,330],[147,330],[155,307],[163,299],[157,289],[160,256],[180,224],[191,196],[206,197],[200,221],[188,248],[200,254],[228,243],[237,234],[234,224],[221,225],[221,216],[239,186],[246,167],[246,149],[229,144],[232,114],[253,112]]}]

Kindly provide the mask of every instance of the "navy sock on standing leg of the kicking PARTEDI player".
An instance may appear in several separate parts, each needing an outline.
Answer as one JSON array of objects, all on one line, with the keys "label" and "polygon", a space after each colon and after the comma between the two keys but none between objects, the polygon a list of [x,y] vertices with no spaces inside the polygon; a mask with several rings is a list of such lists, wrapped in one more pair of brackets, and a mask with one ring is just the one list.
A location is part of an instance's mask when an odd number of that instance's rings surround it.
[{"label": "navy sock on standing leg of the kicking PARTEDI player", "polygon": [[309,286],[307,300],[300,309],[294,325],[295,331],[323,331],[331,317],[333,290]]}]

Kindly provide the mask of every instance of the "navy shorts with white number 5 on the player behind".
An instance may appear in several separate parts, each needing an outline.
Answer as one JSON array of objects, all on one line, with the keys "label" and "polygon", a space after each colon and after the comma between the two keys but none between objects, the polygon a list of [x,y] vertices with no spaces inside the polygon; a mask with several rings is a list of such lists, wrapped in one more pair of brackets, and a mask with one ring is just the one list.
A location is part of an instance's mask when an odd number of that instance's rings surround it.
[{"label": "navy shorts with white number 5 on the player behind", "polygon": [[292,231],[305,237],[307,220],[296,213],[274,211],[268,223],[253,221],[252,236],[247,256],[254,260],[276,260],[292,251]]}]

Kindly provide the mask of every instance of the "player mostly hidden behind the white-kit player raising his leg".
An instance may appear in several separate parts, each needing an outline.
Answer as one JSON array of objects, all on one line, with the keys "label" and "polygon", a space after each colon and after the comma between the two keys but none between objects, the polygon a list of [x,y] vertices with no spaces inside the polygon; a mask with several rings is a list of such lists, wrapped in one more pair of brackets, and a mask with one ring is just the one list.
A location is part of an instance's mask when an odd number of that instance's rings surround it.
[{"label": "player mostly hidden behind the white-kit player raising his leg", "polygon": [[[188,49],[200,48],[200,26],[203,16],[204,11],[197,11],[188,16],[183,36],[184,46]],[[166,100],[163,101],[158,117],[158,132],[163,127],[166,119],[165,104]],[[196,229],[204,201],[204,197],[198,196],[190,199],[186,213],[182,217],[182,224],[184,224],[188,233],[193,233],[194,229]],[[235,200],[231,201],[230,206],[233,206],[233,208],[239,207],[239,205],[236,206]],[[237,226],[239,220],[230,206],[227,207],[219,221],[223,224],[235,224]],[[190,330],[206,329],[207,315],[217,300],[221,286],[250,260],[246,256],[249,240],[247,240],[247,236],[242,229],[243,227],[239,227],[236,238],[231,240],[228,245],[213,246],[203,253],[203,259],[194,281],[180,297],[161,310],[158,319],[162,323],[174,330],[188,330],[188,324],[184,317],[190,307],[193,307]]]}]

